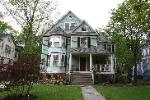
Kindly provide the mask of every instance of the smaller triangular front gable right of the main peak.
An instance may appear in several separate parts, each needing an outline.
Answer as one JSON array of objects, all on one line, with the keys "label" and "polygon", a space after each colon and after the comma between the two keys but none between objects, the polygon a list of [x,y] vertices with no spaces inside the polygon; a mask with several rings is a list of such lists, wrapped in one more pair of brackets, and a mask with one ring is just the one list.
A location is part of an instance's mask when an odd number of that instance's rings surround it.
[{"label": "smaller triangular front gable right of the main peak", "polygon": [[78,27],[76,27],[72,33],[78,33],[78,32],[91,32],[95,33],[93,28],[86,22],[83,21]]}]

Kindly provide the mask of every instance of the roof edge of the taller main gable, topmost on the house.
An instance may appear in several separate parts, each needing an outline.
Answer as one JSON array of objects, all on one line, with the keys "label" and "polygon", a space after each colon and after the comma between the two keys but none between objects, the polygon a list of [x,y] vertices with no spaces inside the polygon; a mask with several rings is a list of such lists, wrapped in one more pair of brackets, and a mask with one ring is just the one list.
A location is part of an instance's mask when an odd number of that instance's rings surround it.
[{"label": "roof edge of the taller main gable, topmost on the house", "polygon": [[81,21],[80,18],[78,18],[72,11],[68,11],[64,16],[62,16],[48,31],[46,31],[44,34],[46,34],[47,32],[52,31],[52,29],[61,21],[63,20],[65,17],[67,17],[69,14],[75,16],[77,19],[79,19]]}]

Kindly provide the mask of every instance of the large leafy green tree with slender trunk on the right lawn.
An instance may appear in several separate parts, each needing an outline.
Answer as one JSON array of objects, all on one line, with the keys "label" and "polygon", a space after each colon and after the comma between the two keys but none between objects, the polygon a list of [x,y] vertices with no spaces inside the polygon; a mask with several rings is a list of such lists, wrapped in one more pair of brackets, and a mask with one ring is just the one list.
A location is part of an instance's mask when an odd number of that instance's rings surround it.
[{"label": "large leafy green tree with slender trunk on the right lawn", "polygon": [[141,58],[141,46],[144,42],[143,36],[148,35],[150,31],[149,23],[149,2],[145,0],[125,0],[117,9],[113,10],[111,20],[106,28],[106,32],[117,39],[116,43],[119,44],[120,39],[125,40],[124,47],[127,47],[127,50],[133,55],[132,65],[134,66],[135,84],[137,83],[137,64]]}]

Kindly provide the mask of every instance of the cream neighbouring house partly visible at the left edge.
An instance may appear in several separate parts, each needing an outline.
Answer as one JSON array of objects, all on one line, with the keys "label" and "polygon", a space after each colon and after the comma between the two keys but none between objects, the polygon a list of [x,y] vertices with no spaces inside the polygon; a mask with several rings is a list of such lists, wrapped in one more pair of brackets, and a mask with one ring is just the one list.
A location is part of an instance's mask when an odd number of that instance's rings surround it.
[{"label": "cream neighbouring house partly visible at the left edge", "polygon": [[0,64],[13,64],[15,43],[10,34],[0,33]]}]

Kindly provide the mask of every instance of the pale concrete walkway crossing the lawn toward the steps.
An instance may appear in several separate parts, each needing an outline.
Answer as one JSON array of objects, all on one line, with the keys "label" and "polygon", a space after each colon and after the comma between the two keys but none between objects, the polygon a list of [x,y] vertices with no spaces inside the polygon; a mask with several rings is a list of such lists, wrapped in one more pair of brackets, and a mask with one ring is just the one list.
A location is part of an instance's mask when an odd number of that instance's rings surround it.
[{"label": "pale concrete walkway crossing the lawn toward the steps", "polygon": [[92,86],[81,86],[84,100],[106,100]]}]

